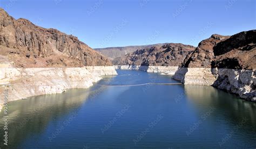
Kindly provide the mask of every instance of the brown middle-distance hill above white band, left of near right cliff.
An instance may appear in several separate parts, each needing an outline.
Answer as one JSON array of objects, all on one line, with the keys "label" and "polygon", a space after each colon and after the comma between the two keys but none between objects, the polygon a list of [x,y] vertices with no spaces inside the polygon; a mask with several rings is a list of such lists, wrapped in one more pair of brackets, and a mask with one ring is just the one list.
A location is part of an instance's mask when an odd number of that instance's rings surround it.
[{"label": "brown middle-distance hill above white band, left of near right cliff", "polygon": [[113,60],[114,65],[179,66],[188,53],[194,51],[191,45],[169,43],[129,53]]}]

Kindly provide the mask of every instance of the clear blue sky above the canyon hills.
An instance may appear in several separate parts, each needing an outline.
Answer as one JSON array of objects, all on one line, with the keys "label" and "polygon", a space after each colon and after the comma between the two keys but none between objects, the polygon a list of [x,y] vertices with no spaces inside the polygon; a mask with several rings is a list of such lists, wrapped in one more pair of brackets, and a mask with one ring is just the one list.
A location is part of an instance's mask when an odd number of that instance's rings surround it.
[{"label": "clear blue sky above the canyon hills", "polygon": [[77,36],[92,48],[183,43],[256,29],[254,0],[0,0],[9,15]]}]

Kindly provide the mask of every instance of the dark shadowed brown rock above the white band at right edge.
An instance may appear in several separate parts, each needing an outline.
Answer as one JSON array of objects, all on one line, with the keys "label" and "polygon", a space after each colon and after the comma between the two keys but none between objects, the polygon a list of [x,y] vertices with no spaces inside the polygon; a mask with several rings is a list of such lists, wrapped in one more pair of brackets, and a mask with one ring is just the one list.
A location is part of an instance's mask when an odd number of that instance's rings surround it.
[{"label": "dark shadowed brown rock above the white band at right edge", "polygon": [[214,46],[212,67],[256,69],[256,30],[237,33]]}]

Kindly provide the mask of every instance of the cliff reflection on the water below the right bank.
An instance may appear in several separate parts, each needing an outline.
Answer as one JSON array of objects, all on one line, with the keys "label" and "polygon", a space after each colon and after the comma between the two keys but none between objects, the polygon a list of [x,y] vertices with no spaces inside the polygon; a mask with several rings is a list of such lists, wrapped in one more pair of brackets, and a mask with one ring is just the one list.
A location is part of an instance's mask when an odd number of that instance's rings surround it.
[{"label": "cliff reflection on the water below the right bank", "polygon": [[184,85],[185,93],[192,99],[193,106],[199,113],[206,112],[209,107],[214,106],[216,117],[227,117],[231,124],[237,125],[242,119],[246,118],[244,128],[255,130],[256,125],[256,103],[241,100],[234,94],[215,89],[212,86]]}]

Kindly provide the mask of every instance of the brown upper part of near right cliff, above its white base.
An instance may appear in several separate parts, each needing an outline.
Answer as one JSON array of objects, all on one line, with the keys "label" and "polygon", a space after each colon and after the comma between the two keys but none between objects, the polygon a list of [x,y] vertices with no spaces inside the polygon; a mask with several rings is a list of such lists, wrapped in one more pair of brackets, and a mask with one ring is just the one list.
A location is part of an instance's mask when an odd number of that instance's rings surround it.
[{"label": "brown upper part of near right cliff, above its white base", "polygon": [[212,35],[187,55],[182,66],[256,69],[256,30],[233,36]]}]

